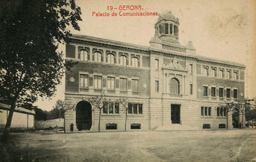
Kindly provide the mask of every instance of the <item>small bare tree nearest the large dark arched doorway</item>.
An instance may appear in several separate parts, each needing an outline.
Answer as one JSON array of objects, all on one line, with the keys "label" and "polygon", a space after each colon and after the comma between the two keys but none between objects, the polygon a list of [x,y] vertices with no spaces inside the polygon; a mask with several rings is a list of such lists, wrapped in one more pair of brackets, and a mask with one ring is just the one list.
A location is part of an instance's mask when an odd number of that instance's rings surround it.
[{"label": "small bare tree nearest the large dark arched doorway", "polygon": [[103,108],[103,103],[108,103],[109,100],[106,99],[105,91],[102,91],[100,95],[92,97],[89,99],[89,103],[91,103],[94,107],[100,110],[99,114],[99,132],[100,132],[100,117],[101,117],[101,109]]}]

